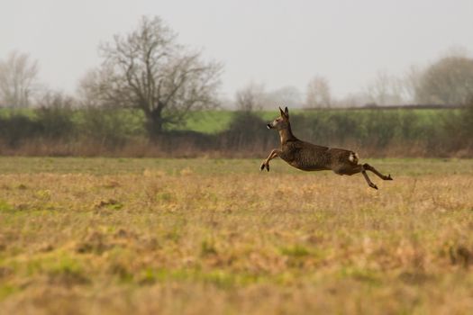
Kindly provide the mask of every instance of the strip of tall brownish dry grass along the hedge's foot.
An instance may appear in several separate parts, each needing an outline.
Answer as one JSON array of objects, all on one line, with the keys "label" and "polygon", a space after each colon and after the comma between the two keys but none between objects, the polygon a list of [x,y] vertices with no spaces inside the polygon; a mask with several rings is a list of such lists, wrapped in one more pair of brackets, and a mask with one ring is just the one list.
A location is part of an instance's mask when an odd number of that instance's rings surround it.
[{"label": "strip of tall brownish dry grass along the hedge's foot", "polygon": [[[268,131],[265,129],[265,132]],[[270,134],[275,135],[273,132]],[[0,156],[4,157],[154,157],[154,158],[254,158],[264,157],[279,145],[275,135],[273,141],[259,139],[247,141],[245,137],[235,135],[232,139],[163,139],[153,143],[147,139],[128,139],[124,143],[110,144],[97,139],[47,140],[31,139],[11,146],[0,139]],[[205,137],[205,136],[203,136]],[[236,140],[239,139],[239,140]],[[456,139],[459,141],[459,139]],[[431,141],[432,142],[432,141]],[[435,142],[435,141],[434,141]],[[327,143],[319,143],[327,145]],[[459,141],[460,148],[437,143],[432,146],[422,141],[392,141],[386,148],[379,148],[376,143],[362,145],[357,141],[347,140],[335,144],[338,148],[350,148],[369,157],[473,157],[473,145]]]}]

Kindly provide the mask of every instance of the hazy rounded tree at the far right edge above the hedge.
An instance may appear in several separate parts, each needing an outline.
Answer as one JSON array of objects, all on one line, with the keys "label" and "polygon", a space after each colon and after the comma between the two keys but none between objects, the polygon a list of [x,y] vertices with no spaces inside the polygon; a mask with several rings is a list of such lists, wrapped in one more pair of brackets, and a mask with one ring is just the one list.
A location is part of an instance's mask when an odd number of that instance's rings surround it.
[{"label": "hazy rounded tree at the far right edge above the hedge", "polygon": [[427,67],[415,88],[419,103],[464,104],[473,94],[473,58],[448,56]]}]

